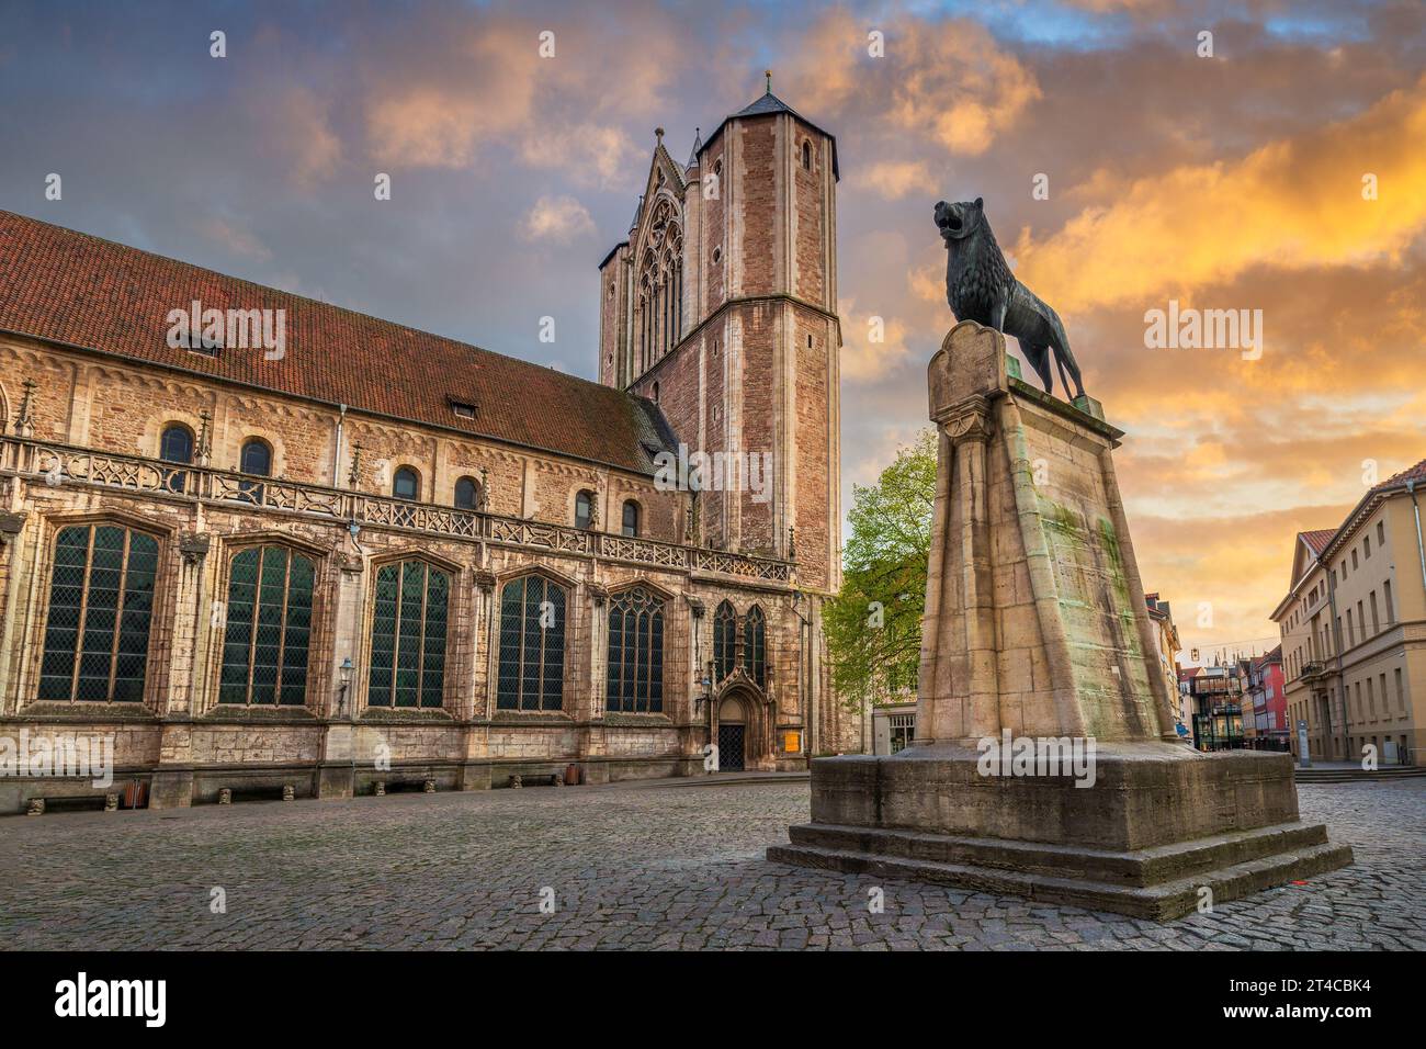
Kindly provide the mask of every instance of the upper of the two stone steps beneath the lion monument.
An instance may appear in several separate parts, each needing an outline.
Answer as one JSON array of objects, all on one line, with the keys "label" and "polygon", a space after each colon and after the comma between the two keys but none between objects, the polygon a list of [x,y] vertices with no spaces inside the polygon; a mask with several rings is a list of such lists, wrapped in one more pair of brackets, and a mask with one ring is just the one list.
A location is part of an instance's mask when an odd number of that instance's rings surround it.
[{"label": "upper of the two stone steps beneath the lion monument", "polygon": [[1320,824],[1278,824],[1127,852],[920,831],[801,824],[791,843],[908,861],[1148,888],[1326,842]]}]

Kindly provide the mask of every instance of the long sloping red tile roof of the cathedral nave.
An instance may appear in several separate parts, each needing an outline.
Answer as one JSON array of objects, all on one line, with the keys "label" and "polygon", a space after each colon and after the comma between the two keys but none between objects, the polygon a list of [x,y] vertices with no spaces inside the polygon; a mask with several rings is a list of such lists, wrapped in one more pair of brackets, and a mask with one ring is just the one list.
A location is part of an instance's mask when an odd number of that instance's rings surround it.
[{"label": "long sloping red tile roof of the cathedral nave", "polygon": [[[194,300],[285,310],[285,355],[171,348],[168,313]],[[0,328],[643,474],[650,447],[673,440],[650,401],[620,390],[10,211]]]}]

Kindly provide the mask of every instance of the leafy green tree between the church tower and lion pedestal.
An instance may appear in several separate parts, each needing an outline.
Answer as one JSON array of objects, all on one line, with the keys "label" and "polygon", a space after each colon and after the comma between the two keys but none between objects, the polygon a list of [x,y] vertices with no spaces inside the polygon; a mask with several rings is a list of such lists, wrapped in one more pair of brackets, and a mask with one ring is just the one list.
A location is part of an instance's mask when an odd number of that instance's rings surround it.
[{"label": "leafy green tree between the church tower and lion pedestal", "polygon": [[935,505],[935,432],[897,451],[873,485],[853,485],[841,592],[824,609],[833,682],[848,706],[915,691]]}]

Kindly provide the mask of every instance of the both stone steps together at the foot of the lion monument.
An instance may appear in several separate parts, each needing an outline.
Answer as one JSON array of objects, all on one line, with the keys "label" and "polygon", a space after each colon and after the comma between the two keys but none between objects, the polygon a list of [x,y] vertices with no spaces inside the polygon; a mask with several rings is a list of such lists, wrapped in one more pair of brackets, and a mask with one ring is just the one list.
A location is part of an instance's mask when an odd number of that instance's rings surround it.
[{"label": "both stone steps together at the foot of the lion monument", "polygon": [[803,825],[791,833],[793,843],[771,846],[769,861],[1154,921],[1194,911],[1204,886],[1221,903],[1352,862],[1349,846],[1326,843],[1325,828],[1301,824],[1119,853],[861,828]]}]

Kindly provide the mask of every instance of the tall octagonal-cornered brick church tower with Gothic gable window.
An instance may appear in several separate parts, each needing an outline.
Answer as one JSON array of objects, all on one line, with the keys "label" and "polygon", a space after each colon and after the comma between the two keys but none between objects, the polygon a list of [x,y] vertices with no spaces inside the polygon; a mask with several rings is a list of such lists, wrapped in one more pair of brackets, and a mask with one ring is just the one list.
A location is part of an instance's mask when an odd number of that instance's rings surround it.
[{"label": "tall octagonal-cornered brick church tower with Gothic gable window", "polygon": [[836,138],[771,74],[687,164],[656,137],[629,237],[599,267],[600,381],[763,488],[700,492],[690,538],[794,559],[820,605],[841,584]]}]

